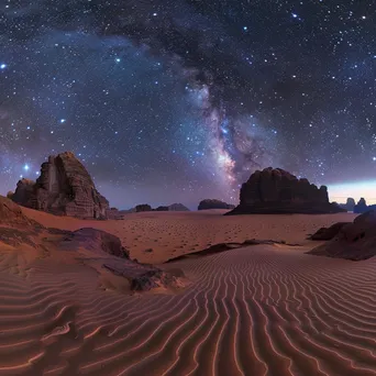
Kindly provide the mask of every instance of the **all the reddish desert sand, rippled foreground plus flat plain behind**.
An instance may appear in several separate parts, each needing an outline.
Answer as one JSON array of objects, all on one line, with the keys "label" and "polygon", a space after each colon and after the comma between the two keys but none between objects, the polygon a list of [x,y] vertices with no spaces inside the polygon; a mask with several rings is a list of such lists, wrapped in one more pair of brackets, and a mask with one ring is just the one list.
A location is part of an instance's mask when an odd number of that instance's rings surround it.
[{"label": "all the reddish desert sand, rippled foreground plus flat plain behind", "polygon": [[[82,221],[23,209],[43,225],[118,235],[162,264],[223,242],[285,241],[164,264],[179,291],[130,294],[74,252],[0,250],[0,375],[376,375],[376,259],[305,254],[347,213],[132,213]],[[145,252],[152,248],[152,252]]]}]

